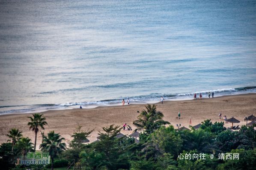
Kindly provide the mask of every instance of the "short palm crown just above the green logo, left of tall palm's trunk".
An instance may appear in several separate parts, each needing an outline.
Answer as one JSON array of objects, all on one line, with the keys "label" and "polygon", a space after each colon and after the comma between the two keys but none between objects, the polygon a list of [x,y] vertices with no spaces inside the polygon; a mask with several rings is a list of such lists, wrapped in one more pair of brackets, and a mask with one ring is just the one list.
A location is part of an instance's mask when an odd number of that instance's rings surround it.
[{"label": "short palm crown just above the green logo, left of tall palm's trunk", "polygon": [[30,138],[21,138],[17,141],[18,153],[21,155],[26,155],[28,152],[33,151],[33,143],[30,142]]}]

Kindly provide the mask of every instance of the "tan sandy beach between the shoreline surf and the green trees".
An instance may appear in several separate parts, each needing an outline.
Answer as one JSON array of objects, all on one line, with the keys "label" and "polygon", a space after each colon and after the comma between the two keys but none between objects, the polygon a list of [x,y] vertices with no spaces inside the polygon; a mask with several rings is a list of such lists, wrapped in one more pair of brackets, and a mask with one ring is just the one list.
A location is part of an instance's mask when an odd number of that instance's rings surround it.
[{"label": "tan sandy beach between the shoreline surf and the green trees", "polygon": [[[111,124],[122,127],[124,123],[132,126],[132,122],[137,119],[139,113],[142,111],[146,104],[133,104],[128,106],[105,106],[91,109],[71,109],[71,110],[58,110],[58,111],[46,111],[43,112],[44,117],[48,125],[45,126],[45,134],[54,130],[55,133],[60,133],[62,137],[66,139],[68,143],[71,140],[70,135],[73,130],[78,126],[83,126],[83,130],[92,130],[92,136],[88,139],[90,142],[97,140],[98,131],[103,132],[101,127],[106,127]],[[240,123],[234,123],[234,126],[245,125],[244,117],[251,114],[256,116],[256,94],[241,94],[230,95],[215,98],[202,98],[202,100],[186,100],[186,101],[166,101],[156,103],[157,110],[164,114],[164,120],[169,121],[175,128],[176,124],[181,124],[182,127],[189,126],[189,119],[191,117],[191,125],[197,125],[203,120],[211,119],[214,122],[223,121],[223,116],[229,119],[235,117],[240,120]],[[181,113],[181,119],[177,119],[178,113]],[[218,115],[222,114],[221,120]],[[29,130],[27,123],[30,121],[28,116],[32,114],[7,114],[0,115],[0,144],[7,142],[8,137],[6,134],[12,128],[22,131],[24,137],[31,138],[34,143],[35,134],[32,130]],[[250,122],[250,121],[249,121]],[[226,127],[231,126],[231,123],[225,123]],[[42,136],[38,133],[37,148],[41,144]],[[121,131],[123,134],[131,133],[131,131]]]}]

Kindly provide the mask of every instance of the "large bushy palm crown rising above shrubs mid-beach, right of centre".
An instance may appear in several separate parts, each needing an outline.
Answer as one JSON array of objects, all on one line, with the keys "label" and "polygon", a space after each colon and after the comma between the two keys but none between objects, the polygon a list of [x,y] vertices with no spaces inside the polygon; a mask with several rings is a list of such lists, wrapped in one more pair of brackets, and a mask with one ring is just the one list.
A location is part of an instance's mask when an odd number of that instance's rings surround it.
[{"label": "large bushy palm crown rising above shrubs mid-beach, right of centre", "polygon": [[135,130],[154,130],[161,125],[170,124],[170,122],[162,120],[164,114],[161,111],[156,111],[156,106],[147,105],[140,115],[138,120],[133,121],[133,125],[137,127]]}]

